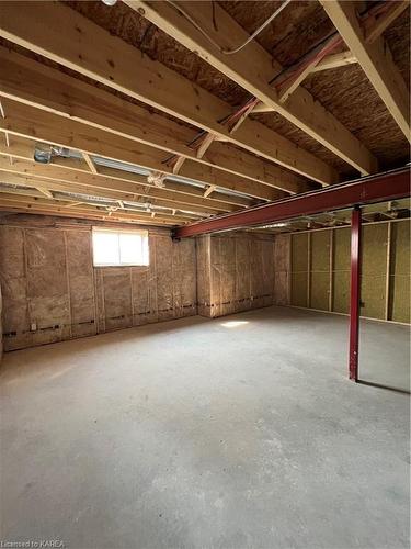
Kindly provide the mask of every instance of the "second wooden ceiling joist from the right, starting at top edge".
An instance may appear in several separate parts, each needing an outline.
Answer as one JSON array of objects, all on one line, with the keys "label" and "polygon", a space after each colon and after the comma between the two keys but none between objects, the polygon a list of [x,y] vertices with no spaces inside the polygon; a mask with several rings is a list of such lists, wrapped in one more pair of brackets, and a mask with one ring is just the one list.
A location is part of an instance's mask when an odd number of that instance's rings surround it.
[{"label": "second wooden ceiling joist from the right, starting at top edge", "polygon": [[[281,103],[276,90],[269,82],[282,71],[282,67],[258,42],[252,41],[235,55],[224,55],[170,3],[139,0],[125,0],[125,3],[361,173],[377,170],[377,160],[369,150],[307,90],[299,88],[285,104]],[[248,37],[244,30],[218,3],[214,4],[218,30],[213,25],[210,2],[182,2],[181,8],[221,47],[241,44]]]}]

